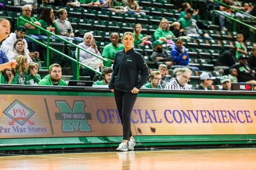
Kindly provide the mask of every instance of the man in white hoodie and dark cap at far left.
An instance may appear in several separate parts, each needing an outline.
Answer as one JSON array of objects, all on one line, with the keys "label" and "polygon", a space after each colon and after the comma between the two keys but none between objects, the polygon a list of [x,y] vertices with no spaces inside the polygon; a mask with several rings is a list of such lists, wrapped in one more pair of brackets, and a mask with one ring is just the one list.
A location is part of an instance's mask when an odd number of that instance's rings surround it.
[{"label": "man in white hoodie and dark cap at far left", "polygon": [[38,51],[35,51],[34,53],[29,53],[28,43],[26,39],[24,39],[25,35],[26,35],[26,28],[24,26],[18,27],[14,33],[11,32],[9,37],[2,42],[0,49],[3,50],[5,54],[8,54],[10,51],[12,51],[14,42],[18,38],[21,38],[24,41],[24,50],[26,51],[26,53],[28,53],[30,58],[38,58],[39,57]]}]

